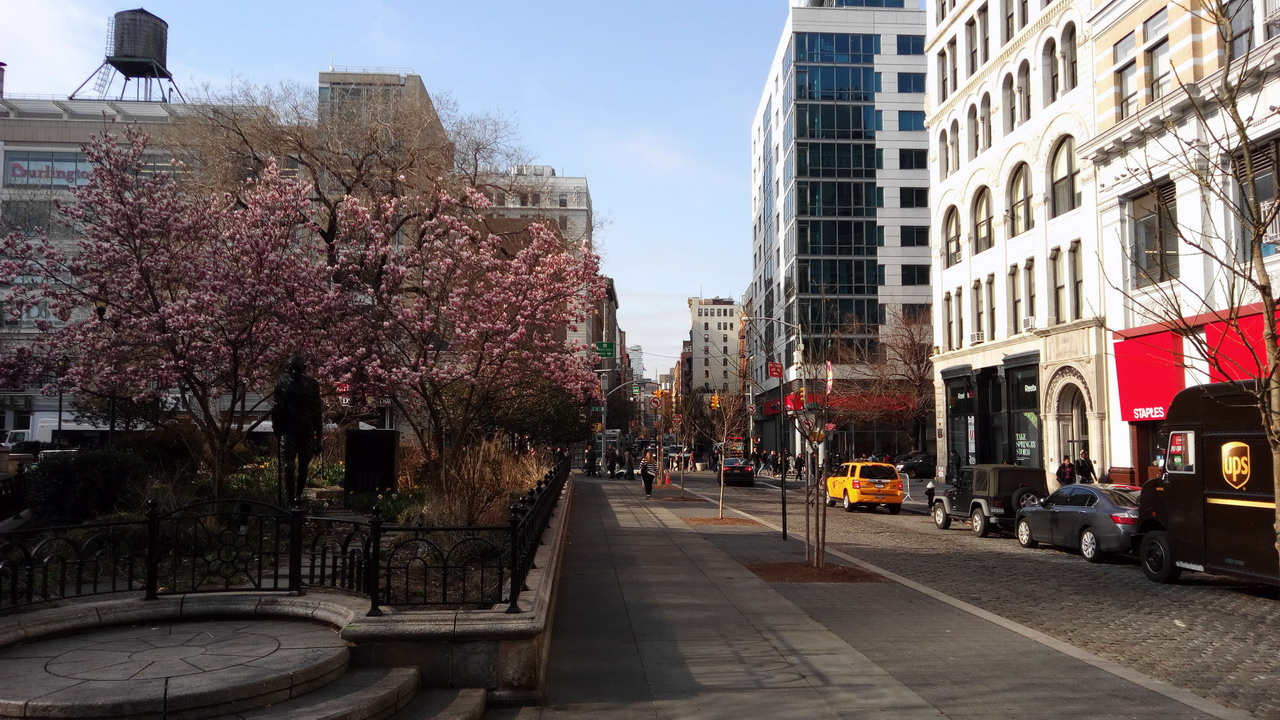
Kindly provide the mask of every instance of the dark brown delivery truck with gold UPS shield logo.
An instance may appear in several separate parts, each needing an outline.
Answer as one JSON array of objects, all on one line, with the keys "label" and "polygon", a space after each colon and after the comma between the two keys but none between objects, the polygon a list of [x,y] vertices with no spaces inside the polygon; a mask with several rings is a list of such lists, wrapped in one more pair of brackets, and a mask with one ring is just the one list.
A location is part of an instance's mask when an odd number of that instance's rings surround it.
[{"label": "dark brown delivery truck with gold UPS shield logo", "polygon": [[1138,503],[1147,578],[1198,570],[1280,584],[1271,448],[1254,397],[1229,383],[1189,387],[1169,405],[1164,441],[1165,469]]}]

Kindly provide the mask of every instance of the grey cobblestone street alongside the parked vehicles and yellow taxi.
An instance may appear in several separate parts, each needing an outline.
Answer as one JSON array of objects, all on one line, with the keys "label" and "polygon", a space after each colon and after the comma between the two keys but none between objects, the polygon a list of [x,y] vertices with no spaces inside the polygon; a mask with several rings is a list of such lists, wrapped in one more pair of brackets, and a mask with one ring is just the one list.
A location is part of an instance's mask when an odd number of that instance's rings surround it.
[{"label": "grey cobblestone street alongside the parked vehicles and yellow taxi", "polygon": [[[712,491],[712,482],[691,477],[687,487]],[[771,480],[728,488],[726,503],[777,525],[778,492],[763,483]],[[788,532],[803,541],[803,491],[791,484],[787,498]],[[1074,552],[1024,550],[1010,536],[978,538],[966,524],[940,530],[916,514],[827,512],[831,551],[1225,706],[1280,717],[1280,605],[1274,588],[1197,573],[1161,585],[1147,580],[1128,556],[1094,565]]]}]

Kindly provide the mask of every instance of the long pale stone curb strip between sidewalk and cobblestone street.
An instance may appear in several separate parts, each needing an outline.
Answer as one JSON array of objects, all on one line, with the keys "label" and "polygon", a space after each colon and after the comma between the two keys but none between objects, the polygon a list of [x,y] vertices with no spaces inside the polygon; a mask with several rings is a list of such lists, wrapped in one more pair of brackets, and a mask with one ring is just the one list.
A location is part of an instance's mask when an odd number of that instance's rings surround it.
[{"label": "long pale stone curb strip between sidewalk and cobblestone street", "polygon": [[[686,489],[686,492],[690,492],[691,495],[696,495],[698,497],[701,497],[703,500],[707,500],[707,501],[710,501],[710,502],[716,502],[716,498],[708,497],[708,496],[705,496],[705,495],[703,495],[700,492],[689,491],[689,489]],[[741,510],[730,507],[728,505],[724,506],[724,510],[732,511],[732,512],[735,512],[737,515],[741,515],[742,518],[746,518],[749,520],[755,520],[756,523],[759,523],[759,524],[762,524],[765,528],[769,528],[772,530],[782,532],[782,528],[780,525],[774,525],[773,523],[765,521],[765,520],[763,520],[760,518],[756,518],[755,515],[751,515],[749,512],[744,512]],[[800,542],[800,541],[797,539],[796,542]],[[1212,717],[1219,717],[1220,720],[1252,720],[1252,717],[1253,717],[1253,715],[1249,714],[1249,712],[1244,712],[1243,710],[1234,710],[1234,708],[1230,708],[1230,707],[1224,707],[1224,706],[1221,706],[1221,705],[1219,705],[1219,703],[1216,703],[1216,702],[1213,702],[1213,701],[1211,701],[1208,698],[1201,697],[1201,696],[1198,696],[1198,694],[1196,694],[1196,693],[1193,693],[1190,691],[1184,691],[1184,689],[1178,688],[1175,685],[1171,685],[1171,684],[1169,684],[1169,683],[1166,683],[1164,680],[1157,680],[1157,679],[1151,678],[1148,675],[1143,675],[1142,673],[1138,673],[1137,670],[1130,670],[1129,667],[1125,667],[1124,665],[1120,665],[1119,662],[1115,662],[1115,661],[1111,661],[1111,660],[1106,660],[1105,657],[1094,655],[1094,653],[1092,653],[1092,652],[1089,652],[1087,650],[1078,648],[1074,644],[1062,642],[1062,641],[1060,641],[1057,638],[1053,638],[1053,637],[1050,637],[1050,635],[1047,635],[1047,634],[1044,634],[1044,633],[1042,633],[1039,630],[1034,630],[1032,628],[1028,628],[1027,625],[1023,625],[1021,623],[1015,623],[1014,620],[1010,620],[1007,618],[1002,618],[1000,615],[996,615],[993,612],[989,612],[987,610],[983,610],[980,607],[970,605],[970,603],[968,603],[968,602],[965,602],[963,600],[951,597],[951,596],[948,596],[948,594],[946,594],[943,592],[936,591],[936,589],[933,589],[933,588],[931,588],[928,585],[916,583],[915,580],[904,578],[904,577],[901,577],[901,575],[899,575],[896,573],[892,573],[890,570],[884,570],[883,568],[879,568],[877,565],[872,565],[870,562],[859,560],[859,559],[854,557],[852,555],[849,555],[847,552],[842,552],[842,551],[838,551],[838,550],[827,550],[827,555],[832,555],[835,557],[845,560],[846,562],[856,565],[858,568],[861,568],[864,570],[870,570],[872,573],[881,574],[884,578],[888,578],[890,580],[893,580],[895,583],[899,583],[901,585],[911,588],[911,589],[914,589],[916,592],[920,592],[920,593],[923,593],[923,594],[925,594],[928,597],[932,597],[933,600],[937,600],[940,602],[945,602],[945,603],[950,605],[951,607],[955,607],[956,610],[961,610],[961,611],[968,612],[970,615],[974,615],[977,618],[982,618],[983,620],[987,620],[988,623],[998,625],[998,626],[1001,626],[1001,628],[1004,628],[1006,630],[1011,630],[1014,633],[1018,633],[1019,635],[1023,635],[1027,639],[1038,642],[1038,643],[1043,644],[1044,647],[1048,647],[1051,650],[1056,650],[1057,652],[1061,652],[1062,655],[1066,655],[1066,656],[1073,657],[1075,660],[1079,660],[1082,662],[1087,662],[1087,664],[1097,667],[1098,670],[1102,670],[1103,673],[1108,673],[1108,674],[1115,675],[1115,676],[1117,676],[1117,678],[1120,678],[1123,680],[1128,680],[1128,682],[1130,682],[1130,683],[1133,683],[1133,684],[1135,684],[1135,685],[1138,685],[1140,688],[1144,688],[1144,689],[1148,689],[1151,692],[1162,694],[1162,696],[1167,697],[1169,700],[1172,700],[1175,702],[1180,702],[1180,703],[1183,703],[1183,705],[1185,705],[1185,706],[1188,706],[1188,707],[1190,707],[1193,710],[1203,712],[1204,715],[1210,715]]]}]

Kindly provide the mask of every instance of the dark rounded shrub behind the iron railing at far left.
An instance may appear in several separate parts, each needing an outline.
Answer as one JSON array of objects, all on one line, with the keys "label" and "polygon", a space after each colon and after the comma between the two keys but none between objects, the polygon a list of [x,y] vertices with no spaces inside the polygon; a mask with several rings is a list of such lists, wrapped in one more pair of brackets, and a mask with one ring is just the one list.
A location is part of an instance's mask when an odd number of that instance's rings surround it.
[{"label": "dark rounded shrub behind the iron railing at far left", "polygon": [[136,506],[146,478],[146,462],[124,450],[49,455],[27,474],[28,506],[44,523],[78,524]]}]

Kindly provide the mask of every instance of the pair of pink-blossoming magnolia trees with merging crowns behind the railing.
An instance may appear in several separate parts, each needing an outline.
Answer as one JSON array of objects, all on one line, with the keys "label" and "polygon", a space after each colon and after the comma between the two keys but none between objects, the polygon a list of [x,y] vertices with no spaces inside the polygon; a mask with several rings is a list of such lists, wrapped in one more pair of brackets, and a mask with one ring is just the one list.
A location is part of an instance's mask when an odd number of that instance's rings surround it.
[{"label": "pair of pink-blossoming magnolia trees with merging crowns behind the railing", "polygon": [[495,404],[548,382],[594,392],[590,364],[563,331],[603,292],[598,259],[543,225],[494,234],[472,210],[483,196],[438,192],[371,206],[347,197],[339,232],[321,237],[307,193],[274,163],[234,193],[198,197],[143,172],[141,132],[123,140],[86,147],[96,169],[61,208],[79,232],[74,246],[4,238],[8,311],[47,302],[55,318],[0,361],[9,387],[42,382],[70,359],[73,392],[177,393],[206,443],[216,495],[239,407],[269,401],[292,352],[311,359],[323,387],[342,380],[390,398],[436,468],[489,429]]}]

